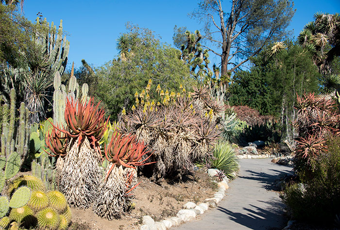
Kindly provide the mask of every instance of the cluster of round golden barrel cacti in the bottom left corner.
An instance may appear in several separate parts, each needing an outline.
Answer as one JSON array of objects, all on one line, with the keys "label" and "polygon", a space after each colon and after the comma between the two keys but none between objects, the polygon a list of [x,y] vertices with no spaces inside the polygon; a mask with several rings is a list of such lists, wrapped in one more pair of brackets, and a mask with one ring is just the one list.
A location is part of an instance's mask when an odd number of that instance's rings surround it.
[{"label": "cluster of round golden barrel cacti in the bottom left corner", "polygon": [[[21,185],[26,186],[21,186]],[[44,230],[65,230],[71,220],[68,203],[59,191],[46,192],[44,183],[31,175],[17,177],[8,194],[14,190],[11,200],[0,197],[0,227],[7,229],[10,221],[12,226],[37,228]],[[31,193],[32,191],[32,193]],[[4,205],[2,205],[4,203]],[[7,204],[7,206],[6,206]],[[9,208],[11,208],[9,215]]]}]

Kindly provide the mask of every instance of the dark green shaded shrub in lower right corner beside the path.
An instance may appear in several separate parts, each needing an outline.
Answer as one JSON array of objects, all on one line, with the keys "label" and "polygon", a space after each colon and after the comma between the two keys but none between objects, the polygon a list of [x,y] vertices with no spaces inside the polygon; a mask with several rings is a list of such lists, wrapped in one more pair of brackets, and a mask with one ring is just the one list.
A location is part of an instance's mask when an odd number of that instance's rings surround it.
[{"label": "dark green shaded shrub in lower right corner beside the path", "polygon": [[293,184],[282,197],[296,219],[332,223],[340,213],[340,138],[327,145],[327,152],[310,158],[312,171],[299,172],[303,188]]}]

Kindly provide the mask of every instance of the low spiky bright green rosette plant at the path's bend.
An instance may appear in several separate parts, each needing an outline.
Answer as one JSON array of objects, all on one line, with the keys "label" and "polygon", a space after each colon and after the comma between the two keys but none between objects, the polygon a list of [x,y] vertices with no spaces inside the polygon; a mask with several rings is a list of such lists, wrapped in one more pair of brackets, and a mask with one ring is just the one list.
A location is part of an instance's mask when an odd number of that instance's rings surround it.
[{"label": "low spiky bright green rosette plant at the path's bend", "polygon": [[228,178],[234,178],[233,172],[239,169],[235,149],[227,142],[221,142],[215,146],[209,162],[212,168],[223,170]]}]

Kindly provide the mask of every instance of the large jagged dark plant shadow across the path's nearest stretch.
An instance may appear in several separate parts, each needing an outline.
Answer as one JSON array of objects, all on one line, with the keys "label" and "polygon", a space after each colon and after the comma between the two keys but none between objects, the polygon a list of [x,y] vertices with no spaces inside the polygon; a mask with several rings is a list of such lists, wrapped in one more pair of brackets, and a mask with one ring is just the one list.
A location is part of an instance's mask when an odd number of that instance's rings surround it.
[{"label": "large jagged dark plant shadow across the path's nearest stretch", "polygon": [[249,208],[243,208],[245,211],[243,213],[233,212],[221,206],[219,206],[217,210],[226,214],[225,218],[235,221],[236,223],[252,230],[281,230],[282,228],[268,228],[267,226],[270,226],[268,222],[272,222],[272,226],[275,226],[277,218],[282,216],[282,210],[284,208],[282,202],[280,202],[277,198],[270,202],[264,202],[261,200],[257,201],[265,203],[265,209],[250,204]]}]

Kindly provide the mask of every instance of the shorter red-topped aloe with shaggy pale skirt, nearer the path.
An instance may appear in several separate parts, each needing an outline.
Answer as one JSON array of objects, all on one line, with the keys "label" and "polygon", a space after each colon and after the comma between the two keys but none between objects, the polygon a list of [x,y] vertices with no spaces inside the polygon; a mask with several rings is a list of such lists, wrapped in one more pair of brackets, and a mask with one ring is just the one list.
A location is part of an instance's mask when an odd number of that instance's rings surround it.
[{"label": "shorter red-topped aloe with shaggy pale skirt, nearer the path", "polygon": [[131,205],[131,195],[137,184],[137,166],[154,162],[146,161],[151,155],[143,142],[136,137],[122,135],[117,131],[105,146],[105,158],[109,161],[105,178],[99,187],[98,198],[93,205],[94,212],[106,219],[119,218]]}]

